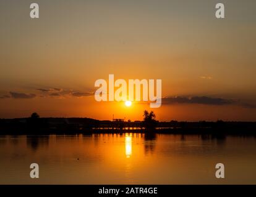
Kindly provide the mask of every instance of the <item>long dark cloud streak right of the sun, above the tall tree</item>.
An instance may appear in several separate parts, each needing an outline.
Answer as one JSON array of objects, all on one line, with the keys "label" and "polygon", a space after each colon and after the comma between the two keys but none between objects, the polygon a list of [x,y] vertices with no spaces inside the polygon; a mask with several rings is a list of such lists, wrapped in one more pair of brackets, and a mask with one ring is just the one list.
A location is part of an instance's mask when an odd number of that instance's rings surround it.
[{"label": "long dark cloud streak right of the sun, above the tall tree", "polygon": [[228,105],[235,103],[234,100],[224,98],[211,97],[168,97],[162,98],[163,104],[189,103],[189,104],[205,104],[205,105]]}]

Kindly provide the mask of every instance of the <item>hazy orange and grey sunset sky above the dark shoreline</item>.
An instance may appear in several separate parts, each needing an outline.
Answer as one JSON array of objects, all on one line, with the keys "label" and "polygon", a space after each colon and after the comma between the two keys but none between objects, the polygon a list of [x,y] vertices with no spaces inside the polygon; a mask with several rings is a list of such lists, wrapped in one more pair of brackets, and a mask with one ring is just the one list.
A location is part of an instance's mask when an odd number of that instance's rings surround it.
[{"label": "hazy orange and grey sunset sky above the dark shoreline", "polygon": [[[40,18],[30,18],[30,4]],[[215,17],[223,2],[225,18]],[[0,1],[0,118],[256,121],[256,1]],[[97,79],[162,79],[163,103],[96,102]]]}]

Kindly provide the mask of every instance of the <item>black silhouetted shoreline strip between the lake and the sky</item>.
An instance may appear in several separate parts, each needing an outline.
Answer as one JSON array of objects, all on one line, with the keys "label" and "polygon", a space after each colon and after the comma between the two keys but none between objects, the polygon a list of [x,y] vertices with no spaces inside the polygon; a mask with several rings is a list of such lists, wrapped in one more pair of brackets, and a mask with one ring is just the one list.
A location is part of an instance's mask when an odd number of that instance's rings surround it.
[{"label": "black silhouetted shoreline strip between the lake and the sky", "polygon": [[256,122],[242,121],[156,121],[154,127],[146,127],[144,121],[99,121],[91,118],[15,118],[0,119],[0,135],[47,135],[90,133],[147,133],[161,134],[214,134],[255,135]]}]

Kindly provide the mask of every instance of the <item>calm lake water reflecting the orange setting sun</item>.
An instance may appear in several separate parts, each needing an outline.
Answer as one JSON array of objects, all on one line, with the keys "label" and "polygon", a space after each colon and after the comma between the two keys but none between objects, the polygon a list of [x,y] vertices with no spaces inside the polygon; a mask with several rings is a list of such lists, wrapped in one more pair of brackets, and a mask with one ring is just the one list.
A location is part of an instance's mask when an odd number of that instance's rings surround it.
[{"label": "calm lake water reflecting the orange setting sun", "polygon": [[[0,136],[1,184],[256,184],[255,137]],[[30,179],[30,164],[40,179]],[[225,179],[215,178],[215,164]]]}]

